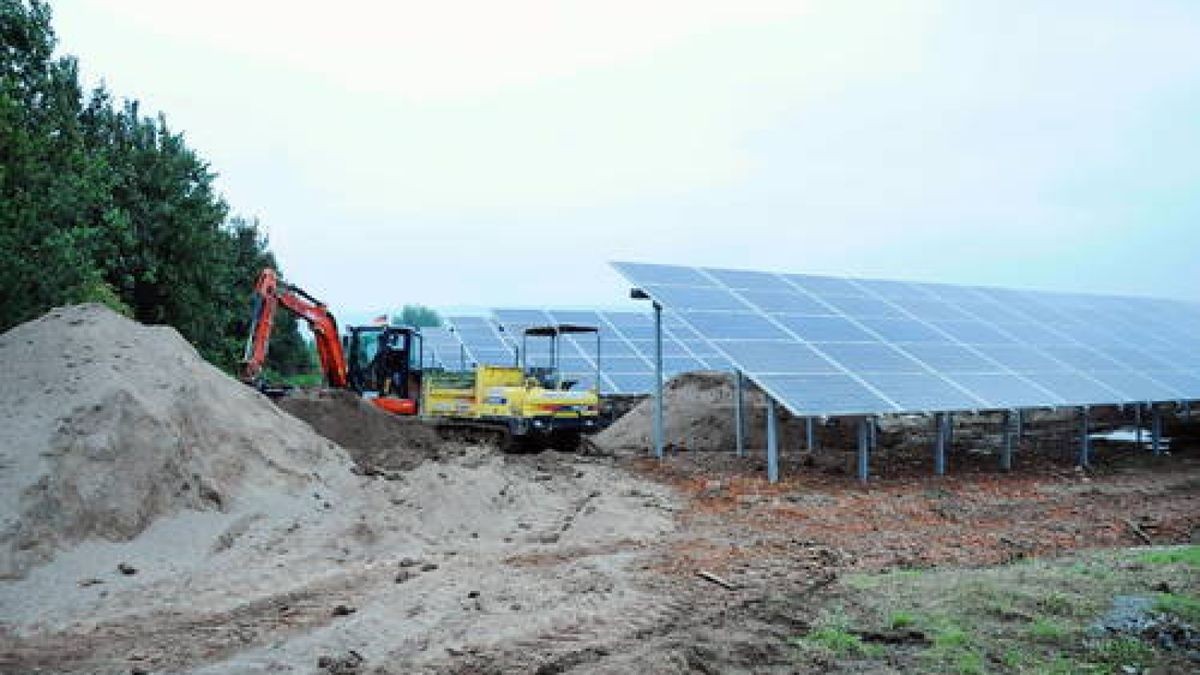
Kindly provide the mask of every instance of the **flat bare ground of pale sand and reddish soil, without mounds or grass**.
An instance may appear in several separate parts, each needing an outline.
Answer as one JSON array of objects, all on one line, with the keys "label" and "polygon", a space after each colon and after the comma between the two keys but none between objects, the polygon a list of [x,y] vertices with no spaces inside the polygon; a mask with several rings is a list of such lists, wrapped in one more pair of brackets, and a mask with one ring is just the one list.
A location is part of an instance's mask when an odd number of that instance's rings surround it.
[{"label": "flat bare ground of pale sand and reddish soil, without mounds or grass", "polygon": [[[884,631],[881,613],[894,610],[869,602],[864,574],[1142,545],[1129,522],[1156,544],[1200,527],[1200,458],[1183,448],[1112,449],[1092,473],[1024,458],[1000,474],[966,454],[938,479],[896,460],[865,489],[836,468],[841,454],[791,458],[768,485],[757,460],[728,454],[660,464],[464,449],[400,480],[361,477],[361,506],[254,524],[191,571],[155,574],[126,544],[89,551],[96,563],[70,584],[38,587],[35,572],[17,592],[70,607],[8,616],[0,670],[937,671],[946,663],[920,656],[930,627],[870,657],[805,635],[844,615]],[[120,574],[118,558],[139,573]]]}]

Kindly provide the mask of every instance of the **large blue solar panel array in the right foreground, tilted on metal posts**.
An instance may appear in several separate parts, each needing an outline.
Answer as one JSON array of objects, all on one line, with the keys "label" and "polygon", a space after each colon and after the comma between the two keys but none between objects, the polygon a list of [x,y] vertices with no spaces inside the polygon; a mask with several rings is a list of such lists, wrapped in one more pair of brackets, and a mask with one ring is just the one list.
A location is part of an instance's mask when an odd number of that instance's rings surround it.
[{"label": "large blue solar panel array in the right foreground, tilted on metal posts", "polygon": [[614,263],[792,413],[1200,398],[1200,305]]}]

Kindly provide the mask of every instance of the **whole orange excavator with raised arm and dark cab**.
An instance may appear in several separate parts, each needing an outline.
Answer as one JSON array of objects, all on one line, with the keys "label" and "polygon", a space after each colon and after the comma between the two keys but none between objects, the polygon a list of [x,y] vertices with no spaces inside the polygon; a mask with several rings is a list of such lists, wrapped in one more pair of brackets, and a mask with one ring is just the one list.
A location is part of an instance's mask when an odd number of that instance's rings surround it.
[{"label": "whole orange excavator with raised arm and dark cab", "polygon": [[[245,382],[268,394],[282,393],[265,387],[262,380],[275,310],[280,305],[308,324],[317,342],[320,370],[330,387],[353,389],[391,413],[416,414],[420,334],[408,327],[361,325],[350,327],[343,342],[329,307],[302,288],[280,280],[271,268],[263,269],[254,283],[250,338],[242,356]],[[350,359],[346,358],[347,350]]]}]

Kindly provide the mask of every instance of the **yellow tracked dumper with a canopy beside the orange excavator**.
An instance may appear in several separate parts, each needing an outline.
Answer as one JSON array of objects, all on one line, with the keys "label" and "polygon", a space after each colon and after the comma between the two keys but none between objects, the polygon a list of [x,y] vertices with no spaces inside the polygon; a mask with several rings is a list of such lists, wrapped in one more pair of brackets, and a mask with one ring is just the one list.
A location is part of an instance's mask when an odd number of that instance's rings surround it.
[{"label": "yellow tracked dumper with a canopy beside the orange excavator", "polygon": [[[587,389],[564,380],[559,368],[564,335],[595,336],[596,374]],[[529,365],[529,341],[547,340],[548,365]],[[425,372],[421,414],[446,438],[496,443],[502,450],[578,448],[584,432],[600,428],[600,331],[590,325],[527,328],[518,365],[478,364],[468,372]]]}]

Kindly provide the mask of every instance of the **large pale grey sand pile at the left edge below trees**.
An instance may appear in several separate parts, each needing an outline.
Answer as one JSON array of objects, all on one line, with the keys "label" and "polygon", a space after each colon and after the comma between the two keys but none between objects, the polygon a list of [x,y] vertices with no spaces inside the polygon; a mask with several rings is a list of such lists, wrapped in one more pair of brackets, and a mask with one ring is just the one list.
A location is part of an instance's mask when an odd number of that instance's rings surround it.
[{"label": "large pale grey sand pile at the left edge below trees", "polygon": [[100,305],[0,335],[0,578],[180,509],[269,510],[348,468],[174,329]]}]

